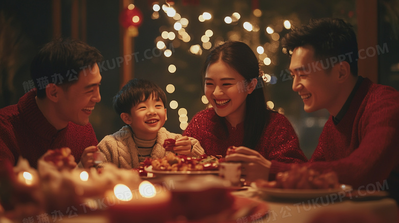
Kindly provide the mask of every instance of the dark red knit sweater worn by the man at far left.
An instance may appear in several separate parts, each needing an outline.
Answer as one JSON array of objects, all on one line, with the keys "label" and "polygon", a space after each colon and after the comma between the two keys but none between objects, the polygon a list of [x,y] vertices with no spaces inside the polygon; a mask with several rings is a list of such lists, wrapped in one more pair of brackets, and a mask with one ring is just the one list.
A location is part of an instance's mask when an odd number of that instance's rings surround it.
[{"label": "dark red knit sweater worn by the man at far left", "polygon": [[35,101],[36,90],[19,98],[18,104],[0,109],[0,165],[4,160],[16,164],[18,157],[28,159],[32,167],[49,149],[68,146],[79,162],[84,148],[98,141],[90,123],[79,126],[69,122],[57,131],[40,112]]}]

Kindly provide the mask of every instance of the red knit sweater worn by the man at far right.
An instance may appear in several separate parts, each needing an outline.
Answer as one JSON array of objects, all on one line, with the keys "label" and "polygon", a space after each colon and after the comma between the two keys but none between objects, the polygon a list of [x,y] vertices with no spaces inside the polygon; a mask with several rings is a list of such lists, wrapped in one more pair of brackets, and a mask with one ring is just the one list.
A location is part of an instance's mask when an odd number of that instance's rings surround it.
[{"label": "red knit sweater worn by the man at far right", "polygon": [[[309,167],[334,170],[339,181],[362,188],[398,182],[399,92],[392,87],[364,79],[348,111],[335,125],[332,116],[325,123]],[[272,161],[271,173],[289,165]],[[377,185],[378,186],[378,185]]]}]

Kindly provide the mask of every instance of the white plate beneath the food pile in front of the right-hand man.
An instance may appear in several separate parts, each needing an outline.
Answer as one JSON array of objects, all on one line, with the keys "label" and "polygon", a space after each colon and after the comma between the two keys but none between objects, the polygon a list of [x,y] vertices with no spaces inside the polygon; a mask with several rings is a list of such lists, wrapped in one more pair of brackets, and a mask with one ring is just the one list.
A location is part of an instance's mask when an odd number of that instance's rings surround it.
[{"label": "white plate beneath the food pile in front of the right-hand man", "polygon": [[[252,187],[263,191],[271,197],[282,198],[282,199],[312,199],[315,197],[330,195],[333,193],[337,194],[337,197],[345,196],[345,191],[351,191],[352,186],[341,184],[339,188],[330,189],[281,189],[281,188],[267,188],[267,187],[256,187],[255,184],[251,184]],[[333,195],[331,195],[333,196]]]}]

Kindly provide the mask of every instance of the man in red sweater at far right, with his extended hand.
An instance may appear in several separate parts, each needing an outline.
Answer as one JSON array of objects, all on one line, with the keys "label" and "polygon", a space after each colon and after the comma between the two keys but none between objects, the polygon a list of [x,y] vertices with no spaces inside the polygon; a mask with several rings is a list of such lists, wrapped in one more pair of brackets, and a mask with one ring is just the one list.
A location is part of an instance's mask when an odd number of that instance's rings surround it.
[{"label": "man in red sweater at far right, with his extended hand", "polygon": [[[358,76],[358,46],[350,24],[313,19],[282,39],[291,54],[292,88],[306,112],[330,113],[308,163],[321,172],[334,170],[340,183],[354,188],[398,190],[399,92]],[[255,163],[271,174],[291,164],[262,159],[238,147],[227,161]]]}]

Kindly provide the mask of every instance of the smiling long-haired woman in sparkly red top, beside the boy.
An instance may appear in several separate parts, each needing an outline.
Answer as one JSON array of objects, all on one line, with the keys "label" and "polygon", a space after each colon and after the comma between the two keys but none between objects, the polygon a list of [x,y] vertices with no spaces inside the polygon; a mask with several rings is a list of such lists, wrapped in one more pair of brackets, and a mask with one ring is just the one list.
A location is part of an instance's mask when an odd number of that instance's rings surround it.
[{"label": "smiling long-haired woman in sparkly red top, beside the boy", "polygon": [[262,75],[247,44],[228,41],[215,47],[203,68],[212,108],[197,113],[184,135],[200,141],[208,155],[226,156],[229,146],[245,146],[268,160],[306,162],[291,123],[267,107]]}]

